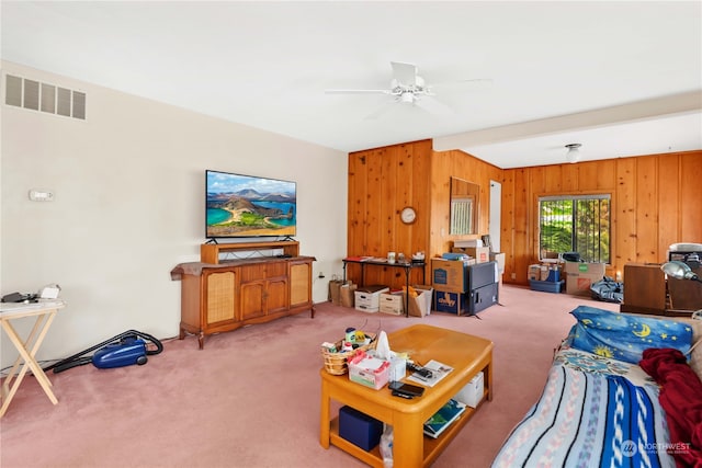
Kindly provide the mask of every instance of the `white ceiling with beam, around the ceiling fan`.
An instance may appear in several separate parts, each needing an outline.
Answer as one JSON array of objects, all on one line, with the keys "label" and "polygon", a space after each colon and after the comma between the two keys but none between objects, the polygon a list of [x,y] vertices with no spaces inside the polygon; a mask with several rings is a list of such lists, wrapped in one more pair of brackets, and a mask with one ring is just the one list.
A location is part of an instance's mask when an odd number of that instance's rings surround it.
[{"label": "white ceiling with beam, around the ceiling fan", "polygon": [[[434,139],[500,168],[702,149],[702,2],[13,2],[2,59],[342,151]],[[416,64],[450,113],[393,104]],[[31,78],[31,77],[30,77]],[[88,103],[90,105],[90,103]],[[88,107],[88,118],[90,118]]]}]

